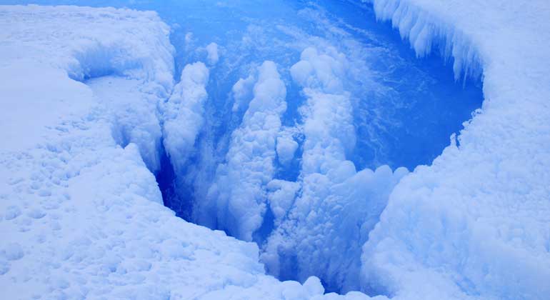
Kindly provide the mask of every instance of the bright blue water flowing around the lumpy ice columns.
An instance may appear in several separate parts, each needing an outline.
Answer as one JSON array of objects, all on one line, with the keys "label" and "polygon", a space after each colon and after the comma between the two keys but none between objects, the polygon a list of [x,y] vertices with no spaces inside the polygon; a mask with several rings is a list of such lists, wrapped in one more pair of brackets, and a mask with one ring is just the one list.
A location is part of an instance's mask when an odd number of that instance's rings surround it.
[{"label": "bright blue water flowing around the lumpy ice columns", "polygon": [[[288,110],[283,124],[296,126],[304,97],[291,81],[289,69],[301,51],[311,45],[334,46],[346,55],[351,70],[343,81],[353,99],[357,136],[349,159],[357,169],[389,164],[411,170],[431,164],[449,144],[449,136],[481,106],[480,82],[456,83],[451,64],[445,65],[438,56],[417,59],[389,24],[376,22],[370,6],[353,1],[0,0],[0,4],[30,2],[157,11],[173,29],[175,79],[186,64],[206,61],[207,44],[219,45],[220,61],[210,70],[206,125],[196,154],[184,174],[174,174],[166,157],[157,174],[166,206],[191,221],[194,203],[206,194],[226,155],[229,136],[244,114],[244,109],[231,111],[231,87],[264,60],[276,62],[286,83]],[[301,149],[290,166],[279,166],[276,178],[296,180],[300,154]],[[255,234],[260,243],[273,227],[269,213]],[[292,261],[281,262],[286,263],[291,266],[284,269],[295,267]]]}]

